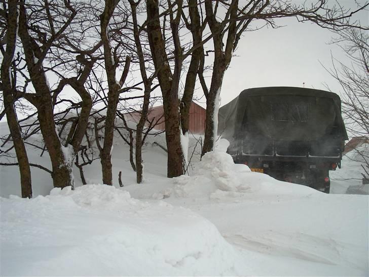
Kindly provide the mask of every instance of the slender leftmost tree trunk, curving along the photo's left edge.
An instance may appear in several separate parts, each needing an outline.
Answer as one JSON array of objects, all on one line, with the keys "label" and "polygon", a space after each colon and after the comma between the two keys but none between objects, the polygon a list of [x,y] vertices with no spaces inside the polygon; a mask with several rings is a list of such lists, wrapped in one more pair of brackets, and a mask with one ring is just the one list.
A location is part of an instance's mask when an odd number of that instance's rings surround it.
[{"label": "slender leftmost tree trunk, curving along the photo's left edge", "polygon": [[[12,135],[15,153],[19,163],[19,173],[21,181],[21,192],[23,198],[32,198],[31,171],[29,168],[28,156],[24,146],[22,133],[19,127],[17,114],[15,111],[14,97],[15,84],[11,80],[11,64],[14,57],[17,39],[18,7],[17,1],[8,2],[8,30],[7,47],[1,65],[1,80],[3,83],[4,108],[7,110],[7,121]],[[2,49],[3,50],[3,49]]]}]

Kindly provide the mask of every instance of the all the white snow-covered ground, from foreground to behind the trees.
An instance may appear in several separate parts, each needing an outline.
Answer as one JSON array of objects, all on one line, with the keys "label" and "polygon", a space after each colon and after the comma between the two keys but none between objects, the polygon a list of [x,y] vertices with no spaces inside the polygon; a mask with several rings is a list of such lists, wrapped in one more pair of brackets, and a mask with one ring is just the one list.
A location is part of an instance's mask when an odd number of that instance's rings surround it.
[{"label": "all the white snow-covered ground, from foreground to behind the trees", "polygon": [[0,275],[369,274],[369,197],[340,194],[356,182],[341,179],[360,178],[356,162],[344,158],[327,195],[234,164],[221,141],[189,175],[168,179],[165,152],[151,144],[164,145],[161,135],[149,138],[136,184],[116,141],[124,188],[98,184],[95,161],[85,167],[95,184],[80,186],[75,170],[75,191],[52,189],[50,175],[32,168],[34,198],[20,199],[9,197],[20,195],[17,167],[0,167]]}]

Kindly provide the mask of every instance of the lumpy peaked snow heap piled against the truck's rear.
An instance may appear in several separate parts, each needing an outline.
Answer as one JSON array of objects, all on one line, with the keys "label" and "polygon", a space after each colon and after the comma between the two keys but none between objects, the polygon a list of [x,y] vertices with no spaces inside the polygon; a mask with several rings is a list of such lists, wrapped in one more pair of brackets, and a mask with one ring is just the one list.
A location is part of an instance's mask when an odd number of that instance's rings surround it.
[{"label": "lumpy peaked snow heap piled against the truck's rear", "polygon": [[[190,175],[174,178],[171,185],[154,198],[210,197],[224,199],[259,194],[301,195],[317,191],[298,184],[278,181],[266,174],[251,172],[247,165],[235,164],[226,153],[229,142],[220,140],[215,151],[206,153]],[[129,189],[128,189],[129,190]]]}]

